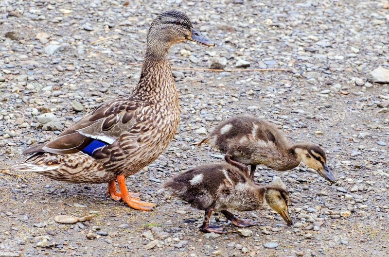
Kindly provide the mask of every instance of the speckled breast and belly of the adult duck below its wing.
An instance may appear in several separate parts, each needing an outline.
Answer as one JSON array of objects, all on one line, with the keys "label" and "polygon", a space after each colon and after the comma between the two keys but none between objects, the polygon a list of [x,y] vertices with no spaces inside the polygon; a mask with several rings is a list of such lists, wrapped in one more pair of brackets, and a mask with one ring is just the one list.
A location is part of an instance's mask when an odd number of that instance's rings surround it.
[{"label": "speckled breast and belly of the adult duck below its wing", "polygon": [[[105,183],[123,174],[125,177],[135,174],[143,167],[151,164],[167,148],[177,131],[179,120],[178,101],[165,108],[157,106],[147,119],[137,124],[141,131],[131,137],[137,142],[136,149],[126,149],[129,132],[124,131],[121,137],[110,145],[106,158],[96,160],[81,152],[76,154],[36,154],[35,163],[50,163],[47,171],[37,173],[46,177],[70,183]],[[109,148],[109,147],[108,147]],[[56,165],[57,164],[57,165]],[[52,169],[54,168],[54,169]]]}]

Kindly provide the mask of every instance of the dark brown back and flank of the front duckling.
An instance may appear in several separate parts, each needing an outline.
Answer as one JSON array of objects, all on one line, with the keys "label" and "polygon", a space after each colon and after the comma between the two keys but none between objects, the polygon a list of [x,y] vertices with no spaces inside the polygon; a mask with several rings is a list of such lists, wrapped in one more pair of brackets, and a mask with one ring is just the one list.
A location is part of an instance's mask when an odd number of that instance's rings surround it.
[{"label": "dark brown back and flank of the front duckling", "polygon": [[166,191],[192,206],[212,207],[217,194],[237,183],[246,183],[247,174],[228,163],[207,164],[184,171],[163,184]]}]

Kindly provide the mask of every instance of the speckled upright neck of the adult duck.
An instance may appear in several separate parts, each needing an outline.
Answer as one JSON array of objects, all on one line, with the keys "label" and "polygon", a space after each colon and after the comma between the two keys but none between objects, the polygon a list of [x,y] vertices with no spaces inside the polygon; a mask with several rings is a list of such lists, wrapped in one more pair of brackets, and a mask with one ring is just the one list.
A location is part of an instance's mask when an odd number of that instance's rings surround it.
[{"label": "speckled upright neck of the adult duck", "polygon": [[141,76],[133,94],[156,103],[174,101],[177,90],[172,69],[168,62],[170,45],[164,42],[148,40]]}]

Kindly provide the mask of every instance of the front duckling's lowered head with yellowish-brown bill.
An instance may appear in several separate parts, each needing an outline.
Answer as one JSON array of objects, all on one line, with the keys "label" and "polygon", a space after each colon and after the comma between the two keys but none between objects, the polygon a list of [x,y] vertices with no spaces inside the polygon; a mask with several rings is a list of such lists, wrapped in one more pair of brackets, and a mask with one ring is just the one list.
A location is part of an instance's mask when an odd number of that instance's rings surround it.
[{"label": "front duckling's lowered head with yellowish-brown bill", "polygon": [[283,220],[288,226],[293,224],[288,210],[289,195],[283,188],[267,187],[264,199],[270,208],[278,212],[281,217],[283,217]]}]

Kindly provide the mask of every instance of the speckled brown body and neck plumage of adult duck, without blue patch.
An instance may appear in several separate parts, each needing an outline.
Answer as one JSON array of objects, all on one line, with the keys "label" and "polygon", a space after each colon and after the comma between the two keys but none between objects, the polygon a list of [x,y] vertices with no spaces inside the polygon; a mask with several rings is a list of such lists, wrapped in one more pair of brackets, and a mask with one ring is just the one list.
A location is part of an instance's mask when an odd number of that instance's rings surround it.
[{"label": "speckled brown body and neck plumage of adult duck, without blue patch", "polygon": [[[71,183],[104,183],[118,174],[127,177],[152,163],[166,149],[177,130],[178,119],[178,95],[170,66],[150,60],[144,63],[132,95],[102,104],[53,141],[26,151],[61,154],[38,153],[25,163],[33,163],[33,168],[59,166],[39,173]],[[109,137],[114,142],[97,149],[92,156],[79,153],[92,139],[90,135]]]}]

